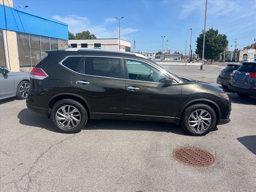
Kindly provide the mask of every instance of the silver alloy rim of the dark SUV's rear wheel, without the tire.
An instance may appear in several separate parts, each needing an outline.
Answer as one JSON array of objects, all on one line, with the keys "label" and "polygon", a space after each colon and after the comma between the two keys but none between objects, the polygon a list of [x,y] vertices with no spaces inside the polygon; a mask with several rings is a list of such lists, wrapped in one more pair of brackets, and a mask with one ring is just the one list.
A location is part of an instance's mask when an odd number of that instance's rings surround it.
[{"label": "silver alloy rim of the dark SUV's rear wheel, without the tire", "polygon": [[72,129],[80,124],[81,114],[76,107],[64,105],[57,110],[55,119],[63,128]]}]

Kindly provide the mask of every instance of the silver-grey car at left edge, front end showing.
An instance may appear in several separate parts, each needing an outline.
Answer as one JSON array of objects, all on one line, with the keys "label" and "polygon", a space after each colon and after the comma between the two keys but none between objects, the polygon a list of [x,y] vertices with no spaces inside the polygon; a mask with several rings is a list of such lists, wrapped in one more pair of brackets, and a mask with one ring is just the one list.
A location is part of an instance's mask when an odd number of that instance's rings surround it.
[{"label": "silver-grey car at left edge, front end showing", "polygon": [[30,75],[25,72],[9,72],[0,67],[0,99],[16,96],[26,99],[30,88]]}]

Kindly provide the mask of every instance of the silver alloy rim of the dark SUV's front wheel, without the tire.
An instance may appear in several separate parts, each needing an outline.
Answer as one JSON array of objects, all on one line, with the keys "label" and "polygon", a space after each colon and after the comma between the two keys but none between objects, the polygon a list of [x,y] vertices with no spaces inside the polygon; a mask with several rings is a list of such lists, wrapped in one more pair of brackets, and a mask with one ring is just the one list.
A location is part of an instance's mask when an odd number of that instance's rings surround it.
[{"label": "silver alloy rim of the dark SUV's front wheel, without the tire", "polygon": [[206,131],[212,122],[210,113],[204,109],[197,109],[188,118],[188,125],[194,132]]}]

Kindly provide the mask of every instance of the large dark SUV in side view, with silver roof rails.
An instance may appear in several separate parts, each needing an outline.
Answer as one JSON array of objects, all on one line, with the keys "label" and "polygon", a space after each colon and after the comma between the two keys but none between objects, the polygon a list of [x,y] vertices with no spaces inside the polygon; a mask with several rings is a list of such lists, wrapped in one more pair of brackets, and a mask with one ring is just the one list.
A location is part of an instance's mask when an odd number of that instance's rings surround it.
[{"label": "large dark SUV in side view, with silver roof rails", "polygon": [[174,122],[199,136],[230,121],[224,90],[180,78],[140,54],[82,48],[46,52],[30,72],[26,102],[60,132],[80,132],[89,119],[126,119]]}]

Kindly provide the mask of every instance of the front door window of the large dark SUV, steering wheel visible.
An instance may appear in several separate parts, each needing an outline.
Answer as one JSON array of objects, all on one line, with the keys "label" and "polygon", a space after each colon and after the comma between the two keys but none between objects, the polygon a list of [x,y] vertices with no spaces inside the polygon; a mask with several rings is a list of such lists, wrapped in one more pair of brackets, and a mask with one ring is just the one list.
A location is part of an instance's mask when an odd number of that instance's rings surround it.
[{"label": "front door window of the large dark SUV, steering wheel visible", "polygon": [[161,82],[166,77],[165,74],[144,62],[127,59],[126,64],[130,80]]}]

